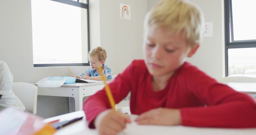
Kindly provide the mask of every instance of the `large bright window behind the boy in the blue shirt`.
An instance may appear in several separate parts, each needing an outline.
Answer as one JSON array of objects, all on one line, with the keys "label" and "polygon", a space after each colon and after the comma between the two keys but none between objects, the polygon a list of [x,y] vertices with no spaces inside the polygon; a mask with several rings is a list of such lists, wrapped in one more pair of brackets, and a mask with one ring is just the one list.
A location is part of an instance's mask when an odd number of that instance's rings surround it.
[{"label": "large bright window behind the boy in the blue shirt", "polygon": [[31,0],[34,67],[89,66],[88,0]]}]

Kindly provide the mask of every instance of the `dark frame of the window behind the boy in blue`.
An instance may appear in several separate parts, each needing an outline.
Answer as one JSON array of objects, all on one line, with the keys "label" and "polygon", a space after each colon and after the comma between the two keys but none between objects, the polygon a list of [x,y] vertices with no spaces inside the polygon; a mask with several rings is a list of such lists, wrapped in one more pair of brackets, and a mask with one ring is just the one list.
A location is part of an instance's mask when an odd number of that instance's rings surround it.
[{"label": "dark frame of the window behind the boy in blue", "polygon": [[[87,9],[87,48],[88,52],[90,51],[90,20],[89,20],[89,0],[86,0],[86,4],[79,2],[79,0],[74,1],[74,0],[52,0],[55,2],[60,2],[63,4],[68,4],[71,6],[77,6],[80,8],[85,8]],[[62,67],[62,66],[90,66],[89,60],[88,63],[71,63],[71,64],[33,64],[34,67]]]}]

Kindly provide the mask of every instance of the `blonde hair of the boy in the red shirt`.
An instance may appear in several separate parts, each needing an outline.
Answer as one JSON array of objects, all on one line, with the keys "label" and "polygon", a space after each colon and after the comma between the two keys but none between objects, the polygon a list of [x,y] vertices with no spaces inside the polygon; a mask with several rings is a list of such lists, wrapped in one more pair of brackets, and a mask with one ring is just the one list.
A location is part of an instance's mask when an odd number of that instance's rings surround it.
[{"label": "blonde hair of the boy in the red shirt", "polygon": [[200,8],[186,0],[162,0],[148,12],[144,32],[148,26],[166,28],[170,34],[182,32],[190,47],[200,44],[204,16]]}]

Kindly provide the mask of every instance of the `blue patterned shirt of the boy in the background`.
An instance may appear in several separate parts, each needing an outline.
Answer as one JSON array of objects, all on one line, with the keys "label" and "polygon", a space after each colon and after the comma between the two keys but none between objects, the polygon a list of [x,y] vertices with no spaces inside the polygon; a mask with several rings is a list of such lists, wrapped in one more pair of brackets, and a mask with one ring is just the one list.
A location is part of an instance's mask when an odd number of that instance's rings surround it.
[{"label": "blue patterned shirt of the boy in the background", "polygon": [[[112,70],[110,69],[110,67],[108,67],[106,64],[103,64],[102,69],[103,69],[103,73],[107,77],[108,81],[111,81]],[[100,76],[100,72],[98,71],[98,69],[93,70],[92,67],[89,67],[89,69],[87,69],[84,73],[82,73],[81,77],[83,77],[84,75]]]}]

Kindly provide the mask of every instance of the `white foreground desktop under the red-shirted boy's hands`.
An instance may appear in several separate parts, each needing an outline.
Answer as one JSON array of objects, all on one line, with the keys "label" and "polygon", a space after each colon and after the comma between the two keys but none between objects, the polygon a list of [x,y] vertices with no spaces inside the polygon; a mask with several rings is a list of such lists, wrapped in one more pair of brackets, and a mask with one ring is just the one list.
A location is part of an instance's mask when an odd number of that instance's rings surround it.
[{"label": "white foreground desktop under the red-shirted boy's hands", "polygon": [[[50,122],[56,119],[69,120],[75,117],[85,116],[83,111],[76,111],[64,115],[45,119]],[[95,129],[89,129],[85,117],[66,127],[59,129],[54,135],[98,135]],[[156,126],[127,124],[126,129],[119,135],[256,135],[256,128],[232,129],[232,128],[198,128],[185,126]]]}]

